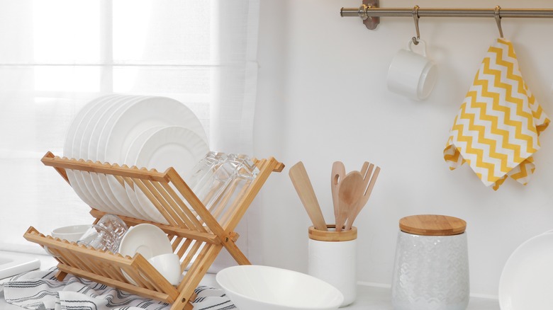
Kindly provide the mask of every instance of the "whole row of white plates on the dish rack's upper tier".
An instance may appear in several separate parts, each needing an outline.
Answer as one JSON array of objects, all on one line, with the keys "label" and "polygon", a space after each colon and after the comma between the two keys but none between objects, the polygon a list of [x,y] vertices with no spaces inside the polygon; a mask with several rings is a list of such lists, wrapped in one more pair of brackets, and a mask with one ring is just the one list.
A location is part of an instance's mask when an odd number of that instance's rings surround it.
[{"label": "whole row of white plates on the dish rack's upper tier", "polygon": [[[63,156],[102,163],[174,167],[186,176],[208,153],[206,132],[194,113],[171,98],[110,95],[86,104],[67,131]],[[79,197],[94,209],[168,224],[137,190],[113,176],[67,170]]]}]

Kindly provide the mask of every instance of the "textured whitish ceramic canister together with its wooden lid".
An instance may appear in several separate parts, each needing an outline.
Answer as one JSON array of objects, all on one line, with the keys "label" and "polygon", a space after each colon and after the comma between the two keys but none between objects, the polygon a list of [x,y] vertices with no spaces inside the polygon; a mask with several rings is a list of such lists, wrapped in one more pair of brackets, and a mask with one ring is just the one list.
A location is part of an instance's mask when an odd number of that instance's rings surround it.
[{"label": "textured whitish ceramic canister together with its wooden lid", "polygon": [[466,225],[462,219],[442,215],[400,220],[392,280],[393,309],[467,309]]}]

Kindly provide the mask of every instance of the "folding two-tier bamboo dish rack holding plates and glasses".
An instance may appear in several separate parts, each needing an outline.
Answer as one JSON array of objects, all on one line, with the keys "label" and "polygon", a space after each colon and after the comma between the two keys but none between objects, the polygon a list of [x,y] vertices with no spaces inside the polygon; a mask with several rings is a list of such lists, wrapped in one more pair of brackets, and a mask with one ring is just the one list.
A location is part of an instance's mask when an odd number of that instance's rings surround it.
[{"label": "folding two-tier bamboo dish rack holding plates and glasses", "polygon": [[[169,225],[148,222],[117,214],[130,227],[137,224],[154,224],[162,229],[171,241],[174,253],[181,258],[181,271],[188,271],[177,286],[169,284],[155,268],[137,253],[134,257],[121,256],[107,251],[69,243],[66,240],[40,234],[30,226],[23,235],[28,241],[47,246],[58,261],[59,272],[57,280],[63,280],[67,274],[84,277],[104,285],[116,287],[126,292],[142,297],[167,302],[171,310],[192,309],[194,289],[199,285],[218,253],[224,247],[240,265],[249,265],[250,261],[236,245],[238,234],[235,227],[245,214],[250,203],[272,172],[281,172],[284,164],[270,157],[255,159],[259,173],[243,195],[235,201],[225,202],[224,211],[214,205],[208,210],[192,192],[174,168],[160,173],[155,169],[118,166],[116,163],[100,163],[84,161],[83,159],[67,159],[54,156],[48,152],[42,162],[52,166],[69,183],[66,169],[86,171],[88,173],[104,173],[114,176],[122,186],[125,183],[145,193],[153,205],[160,211]],[[182,199],[184,197],[184,200]],[[226,207],[225,207],[226,205]],[[221,213],[220,221],[213,217],[212,212]],[[105,212],[91,208],[90,214],[96,218],[96,223]],[[123,272],[135,284],[129,282]]]}]

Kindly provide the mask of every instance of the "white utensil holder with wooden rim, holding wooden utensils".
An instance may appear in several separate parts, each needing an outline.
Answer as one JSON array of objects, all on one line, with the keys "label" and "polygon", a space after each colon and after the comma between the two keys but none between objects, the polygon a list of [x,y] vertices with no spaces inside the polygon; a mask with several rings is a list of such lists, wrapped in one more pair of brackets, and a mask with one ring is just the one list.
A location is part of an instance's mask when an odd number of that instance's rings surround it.
[{"label": "white utensil holder with wooden rim, holding wooden utensils", "polygon": [[340,305],[352,304],[357,297],[357,228],[328,231],[309,227],[308,274],[328,282],[344,295]]}]

